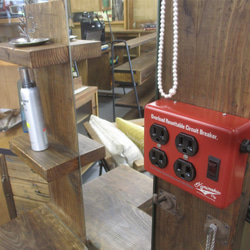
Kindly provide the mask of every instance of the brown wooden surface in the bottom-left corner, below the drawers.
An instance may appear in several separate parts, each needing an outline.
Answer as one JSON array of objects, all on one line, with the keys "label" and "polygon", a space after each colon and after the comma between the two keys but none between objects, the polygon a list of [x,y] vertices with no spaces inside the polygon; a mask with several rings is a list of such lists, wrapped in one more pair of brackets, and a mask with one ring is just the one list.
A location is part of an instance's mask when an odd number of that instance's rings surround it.
[{"label": "brown wooden surface in the bottom-left corner, below the drawers", "polygon": [[0,228],[1,249],[87,249],[46,206],[21,214]]}]

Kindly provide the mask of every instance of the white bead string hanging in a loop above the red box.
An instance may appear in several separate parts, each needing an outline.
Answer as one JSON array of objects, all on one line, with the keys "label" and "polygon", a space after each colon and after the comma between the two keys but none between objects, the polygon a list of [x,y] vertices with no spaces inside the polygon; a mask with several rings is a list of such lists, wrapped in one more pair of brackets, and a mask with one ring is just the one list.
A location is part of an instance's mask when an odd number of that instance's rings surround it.
[{"label": "white bead string hanging in a loop above the red box", "polygon": [[165,33],[165,9],[166,0],[161,1],[160,10],[160,34],[159,34],[159,48],[158,48],[158,89],[162,97],[171,98],[176,94],[178,86],[177,76],[177,60],[178,60],[178,0],[173,0],[173,62],[172,62],[172,76],[173,86],[166,94],[162,88],[162,60],[163,60],[163,47],[164,47],[164,33]]}]

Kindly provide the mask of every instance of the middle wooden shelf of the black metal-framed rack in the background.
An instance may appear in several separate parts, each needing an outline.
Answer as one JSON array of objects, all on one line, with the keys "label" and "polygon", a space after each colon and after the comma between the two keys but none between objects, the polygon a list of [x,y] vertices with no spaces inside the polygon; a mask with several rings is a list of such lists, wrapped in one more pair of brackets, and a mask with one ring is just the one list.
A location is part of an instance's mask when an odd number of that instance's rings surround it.
[{"label": "middle wooden shelf of the black metal-framed rack in the background", "polygon": [[[155,74],[156,50],[152,50],[131,60],[131,64],[135,82],[139,85],[143,84],[150,76]],[[131,71],[128,62],[114,69],[114,78],[116,82],[132,83]]]}]

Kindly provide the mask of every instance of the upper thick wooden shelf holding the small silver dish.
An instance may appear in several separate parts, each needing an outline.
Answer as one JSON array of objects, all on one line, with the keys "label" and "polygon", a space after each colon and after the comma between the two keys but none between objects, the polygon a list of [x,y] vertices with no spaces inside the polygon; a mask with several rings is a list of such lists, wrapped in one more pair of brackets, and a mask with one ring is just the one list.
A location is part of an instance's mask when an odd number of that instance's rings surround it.
[{"label": "upper thick wooden shelf holding the small silver dish", "polygon": [[[101,56],[101,43],[97,41],[75,40],[70,47],[72,60],[75,61]],[[0,59],[29,68],[40,68],[69,62],[69,51],[67,45],[58,43],[20,48],[0,43]]]}]

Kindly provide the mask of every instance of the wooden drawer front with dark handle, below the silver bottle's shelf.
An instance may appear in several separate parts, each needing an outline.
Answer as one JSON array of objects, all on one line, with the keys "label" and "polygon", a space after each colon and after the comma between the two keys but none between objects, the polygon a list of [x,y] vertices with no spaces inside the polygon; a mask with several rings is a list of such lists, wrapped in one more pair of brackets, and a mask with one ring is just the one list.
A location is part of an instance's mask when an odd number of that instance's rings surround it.
[{"label": "wooden drawer front with dark handle, below the silver bottle's shelf", "polygon": [[48,184],[33,181],[31,182],[12,177],[10,177],[10,183],[14,196],[42,202],[49,201]]}]

